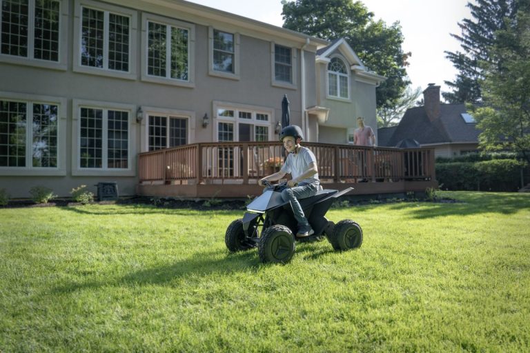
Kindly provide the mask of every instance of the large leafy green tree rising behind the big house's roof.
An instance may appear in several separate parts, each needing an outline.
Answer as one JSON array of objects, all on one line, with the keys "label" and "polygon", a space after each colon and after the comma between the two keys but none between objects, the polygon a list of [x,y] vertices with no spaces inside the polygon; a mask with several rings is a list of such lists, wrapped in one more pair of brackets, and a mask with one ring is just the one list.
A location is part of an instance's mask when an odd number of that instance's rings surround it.
[{"label": "large leafy green tree rising behind the big house's roof", "polygon": [[284,28],[333,41],[344,38],[371,71],[386,77],[377,87],[377,107],[395,105],[410,81],[406,76],[410,52],[402,50],[399,22],[374,21],[373,12],[352,0],[282,1]]}]

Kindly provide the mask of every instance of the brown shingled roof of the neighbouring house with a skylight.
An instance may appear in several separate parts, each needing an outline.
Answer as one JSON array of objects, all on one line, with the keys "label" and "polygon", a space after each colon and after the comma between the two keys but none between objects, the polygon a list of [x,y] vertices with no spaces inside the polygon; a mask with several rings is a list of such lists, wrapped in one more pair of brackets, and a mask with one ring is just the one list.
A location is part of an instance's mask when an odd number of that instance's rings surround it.
[{"label": "brown shingled roof of the neighbouring house with a skylight", "polygon": [[[462,103],[440,104],[440,117],[431,121],[424,107],[410,108],[406,110],[392,136],[386,141],[379,137],[378,144],[393,147],[404,139],[415,139],[422,145],[477,143],[480,130],[476,128],[476,124],[464,121],[462,113],[466,112],[466,106]],[[379,133],[378,130],[377,134]]]}]

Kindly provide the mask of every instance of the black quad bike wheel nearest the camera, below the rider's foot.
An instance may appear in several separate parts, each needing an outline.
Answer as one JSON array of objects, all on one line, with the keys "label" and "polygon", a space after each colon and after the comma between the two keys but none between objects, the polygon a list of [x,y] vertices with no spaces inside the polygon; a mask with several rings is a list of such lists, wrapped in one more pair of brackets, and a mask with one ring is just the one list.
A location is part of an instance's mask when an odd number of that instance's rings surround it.
[{"label": "black quad bike wheel nearest the camera, below the rider's foot", "polygon": [[264,263],[288,263],[295,254],[295,236],[284,225],[268,227],[259,238],[259,259]]}]

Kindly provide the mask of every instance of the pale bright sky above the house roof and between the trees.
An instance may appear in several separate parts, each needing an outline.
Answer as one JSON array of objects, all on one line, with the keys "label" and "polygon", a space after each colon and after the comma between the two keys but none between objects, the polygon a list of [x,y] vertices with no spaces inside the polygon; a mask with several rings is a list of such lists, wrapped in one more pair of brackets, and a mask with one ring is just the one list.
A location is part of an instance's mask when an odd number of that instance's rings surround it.
[{"label": "pale bright sky above the house roof and between the trees", "polygon": [[[210,8],[255,19],[281,27],[281,0],[188,0]],[[406,68],[413,89],[424,90],[429,83],[449,89],[444,81],[454,81],[457,71],[445,58],[444,51],[460,50],[460,42],[451,37],[461,34],[458,22],[471,19],[468,0],[361,0],[388,26],[399,21],[402,27],[404,52],[411,52],[410,65]]]}]

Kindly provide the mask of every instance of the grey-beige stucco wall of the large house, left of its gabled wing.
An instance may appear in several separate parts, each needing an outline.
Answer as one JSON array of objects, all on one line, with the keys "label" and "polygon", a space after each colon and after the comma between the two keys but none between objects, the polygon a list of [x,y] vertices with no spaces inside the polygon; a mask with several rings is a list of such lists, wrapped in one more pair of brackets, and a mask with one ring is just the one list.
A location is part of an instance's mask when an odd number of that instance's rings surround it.
[{"label": "grey-beige stucco wall of the large house, left of its gabled wing", "polygon": [[[154,7],[153,7],[154,8]],[[145,151],[146,141],[146,119],[140,124],[135,119],[137,107],[156,108],[163,111],[188,112],[190,117],[197,122],[190,121],[191,130],[188,143],[217,141],[215,134],[215,119],[213,102],[222,101],[234,105],[249,105],[271,110],[270,129],[274,130],[276,121],[281,119],[281,101],[287,94],[291,101],[291,122],[302,123],[302,99],[300,95],[300,46],[282,38],[273,38],[272,34],[262,34],[262,37],[271,36],[271,40],[259,39],[248,35],[240,35],[240,72],[239,79],[226,79],[208,74],[208,26],[195,23],[195,57],[191,69],[194,72],[194,87],[180,87],[151,83],[141,80],[141,55],[145,52],[141,42],[141,11],[137,11],[138,30],[134,37],[136,48],[135,55],[136,77],[133,79],[122,79],[100,74],[80,73],[73,70],[75,32],[73,16],[75,13],[75,2],[68,1],[68,19],[63,21],[68,32],[67,40],[62,44],[61,50],[66,51],[66,70],[50,70],[49,68],[38,68],[32,65],[24,65],[8,62],[0,59],[0,99],[2,95],[17,100],[32,97],[58,97],[65,100],[66,109],[63,114],[63,123],[59,127],[59,135],[63,137],[64,144],[61,148],[61,175],[47,176],[38,171],[30,173],[19,173],[16,170],[6,171],[0,168],[0,188],[6,188],[14,198],[28,197],[28,190],[35,185],[43,185],[52,188],[59,196],[69,196],[72,188],[81,184],[88,185],[89,190],[95,192],[95,184],[100,181],[117,181],[121,195],[135,194],[137,184],[137,154]],[[181,15],[179,20],[187,21],[186,15]],[[191,21],[191,20],[190,20]],[[237,23],[222,26],[218,23],[210,23],[212,26],[220,26],[222,30],[233,30],[237,32]],[[291,46],[295,50],[295,85],[293,88],[282,88],[271,84],[271,41],[284,46]],[[314,48],[313,48],[314,50]],[[315,105],[315,54],[305,54],[306,72],[306,106]],[[11,60],[12,61],[12,60]],[[27,61],[27,60],[26,60]],[[3,94],[6,93],[6,94]],[[29,98],[28,98],[29,97]],[[123,173],[101,172],[77,173],[75,170],[76,157],[72,154],[77,150],[77,131],[73,124],[75,112],[74,101],[97,101],[107,102],[112,105],[130,106],[130,155],[132,163],[130,172]],[[65,108],[65,107],[63,107]],[[202,127],[204,114],[210,117],[210,124]],[[272,136],[275,139],[275,135]]]}]

